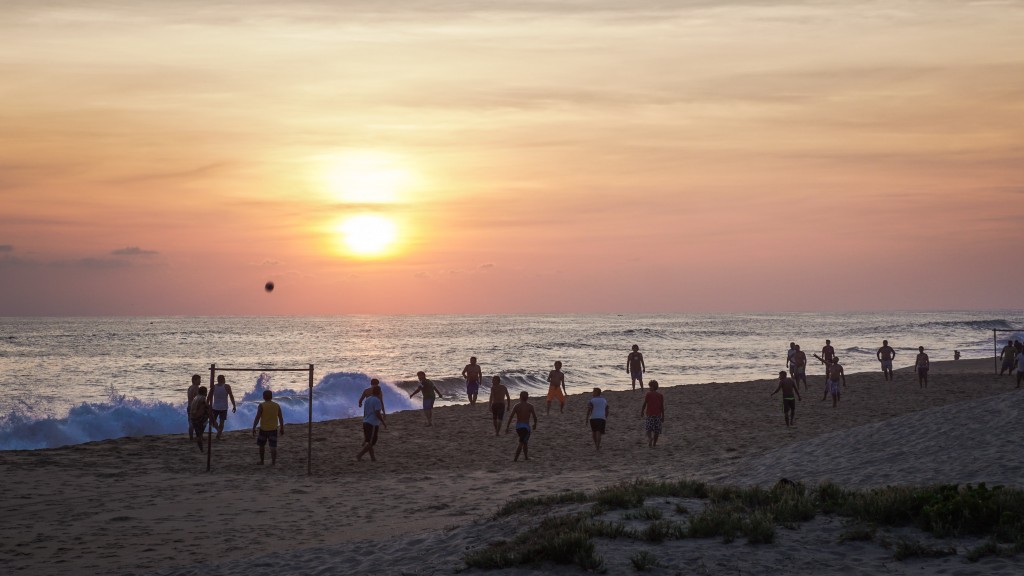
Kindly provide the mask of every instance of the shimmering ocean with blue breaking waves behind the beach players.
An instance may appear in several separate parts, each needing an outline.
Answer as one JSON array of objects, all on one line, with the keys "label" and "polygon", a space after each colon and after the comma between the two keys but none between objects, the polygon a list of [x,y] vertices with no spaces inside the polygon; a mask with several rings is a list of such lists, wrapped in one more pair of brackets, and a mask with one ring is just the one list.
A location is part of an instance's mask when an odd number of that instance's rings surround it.
[{"label": "shimmering ocean with blue breaking waves behind the beach players", "polygon": [[[330,318],[2,318],[0,450],[38,449],[154,434],[184,434],[193,374],[209,385],[224,372],[238,414],[251,425],[264,388],[286,421],[305,421],[306,372],[266,368],[314,365],[313,419],[361,414],[359,393],[380,378],[389,412],[419,406],[408,392],[423,370],[444,394],[467,402],[463,367],[475,356],[486,399],[493,375],[515,396],[546,393],[560,360],[569,393],[628,389],[626,357],[637,344],[646,377],[662,386],[776,377],[791,341],[808,353],[830,338],[848,373],[878,370],[888,339],[896,367],[919,345],[932,360],[991,358],[992,330],[1024,327],[1024,311],[856,314],[343,316]],[[999,334],[1024,339],[1024,330]],[[811,362],[814,362],[811,359]],[[811,364],[808,374],[823,371]]]}]

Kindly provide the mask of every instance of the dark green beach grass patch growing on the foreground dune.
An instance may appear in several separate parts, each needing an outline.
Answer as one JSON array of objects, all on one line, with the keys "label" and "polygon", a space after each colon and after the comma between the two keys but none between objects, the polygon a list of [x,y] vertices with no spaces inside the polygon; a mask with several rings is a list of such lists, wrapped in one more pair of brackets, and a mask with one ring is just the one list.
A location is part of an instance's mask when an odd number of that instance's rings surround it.
[{"label": "dark green beach grass patch growing on the foreground dune", "polygon": [[[675,503],[686,522],[665,520],[660,508],[647,505],[649,498],[705,500],[699,511],[689,511]],[[548,510],[569,503],[589,507],[544,518],[537,529],[527,530],[512,541],[499,541],[465,557],[474,568],[509,568],[550,562],[575,564],[591,571],[603,571],[595,538],[632,538],[651,543],[685,538],[739,537],[749,544],[770,544],[776,526],[796,528],[817,515],[852,520],[856,527],[845,531],[841,542],[874,540],[877,527],[915,527],[936,538],[983,536],[989,541],[969,550],[967,559],[1013,556],[1024,549],[1024,490],[979,485],[891,486],[871,490],[847,490],[833,483],[816,488],[779,481],[771,488],[709,486],[706,483],[635,480],[599,489],[593,493],[566,492],[551,496],[507,502],[496,517]],[[666,503],[672,504],[671,501]],[[623,520],[646,522],[642,528],[598,517],[628,510]],[[864,528],[865,526],[869,528]],[[950,546],[931,546],[914,540],[900,540],[893,546],[896,560],[939,558],[955,554]],[[648,570],[653,557],[631,559],[638,571]],[[643,567],[643,568],[641,568]]]}]

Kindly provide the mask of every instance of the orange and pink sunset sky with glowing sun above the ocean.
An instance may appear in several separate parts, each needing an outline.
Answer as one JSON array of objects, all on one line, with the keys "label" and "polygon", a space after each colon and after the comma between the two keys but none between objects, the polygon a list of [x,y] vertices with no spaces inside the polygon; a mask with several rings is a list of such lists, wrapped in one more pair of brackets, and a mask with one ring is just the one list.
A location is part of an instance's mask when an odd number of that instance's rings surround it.
[{"label": "orange and pink sunset sky with glowing sun above the ocean", "polygon": [[0,316],[1021,308],[1022,30],[1019,1],[5,0]]}]

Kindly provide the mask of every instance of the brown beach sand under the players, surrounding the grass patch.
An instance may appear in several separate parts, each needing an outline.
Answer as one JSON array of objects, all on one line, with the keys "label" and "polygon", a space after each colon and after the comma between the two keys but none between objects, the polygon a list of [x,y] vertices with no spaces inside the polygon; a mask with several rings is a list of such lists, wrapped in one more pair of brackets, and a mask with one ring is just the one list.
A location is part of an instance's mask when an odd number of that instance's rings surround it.
[{"label": "brown beach sand under the players, surrounding the grass patch", "polygon": [[[551,415],[542,399],[528,462],[512,462],[515,435],[495,437],[480,405],[437,409],[433,427],[417,411],[392,415],[378,462],[354,460],[358,420],[314,424],[312,477],[304,424],[287,427],[273,467],[255,465],[256,446],[243,431],[215,442],[212,472],[186,435],[0,452],[0,566],[33,575],[451,574],[467,549],[529,526],[488,520],[507,499],[635,478],[1024,484],[1024,395],[1014,380],[994,377],[984,360],[933,363],[930,379],[925,389],[906,369],[892,383],[881,373],[851,374],[834,409],[812,373],[793,428],[778,395],[768,397],[774,379],[669,385],[666,431],[653,450],[642,433],[642,394],[608,392],[600,453],[584,421],[587,396]],[[841,530],[840,520],[820,517],[779,531],[774,544],[615,540],[599,553],[612,574],[633,572],[628,559],[638,549],[655,553],[667,567],[654,573],[665,574],[775,574],[779,566],[791,574],[1024,572],[1024,559],[898,563],[874,543],[839,544]],[[579,570],[501,573],[551,571]]]}]

